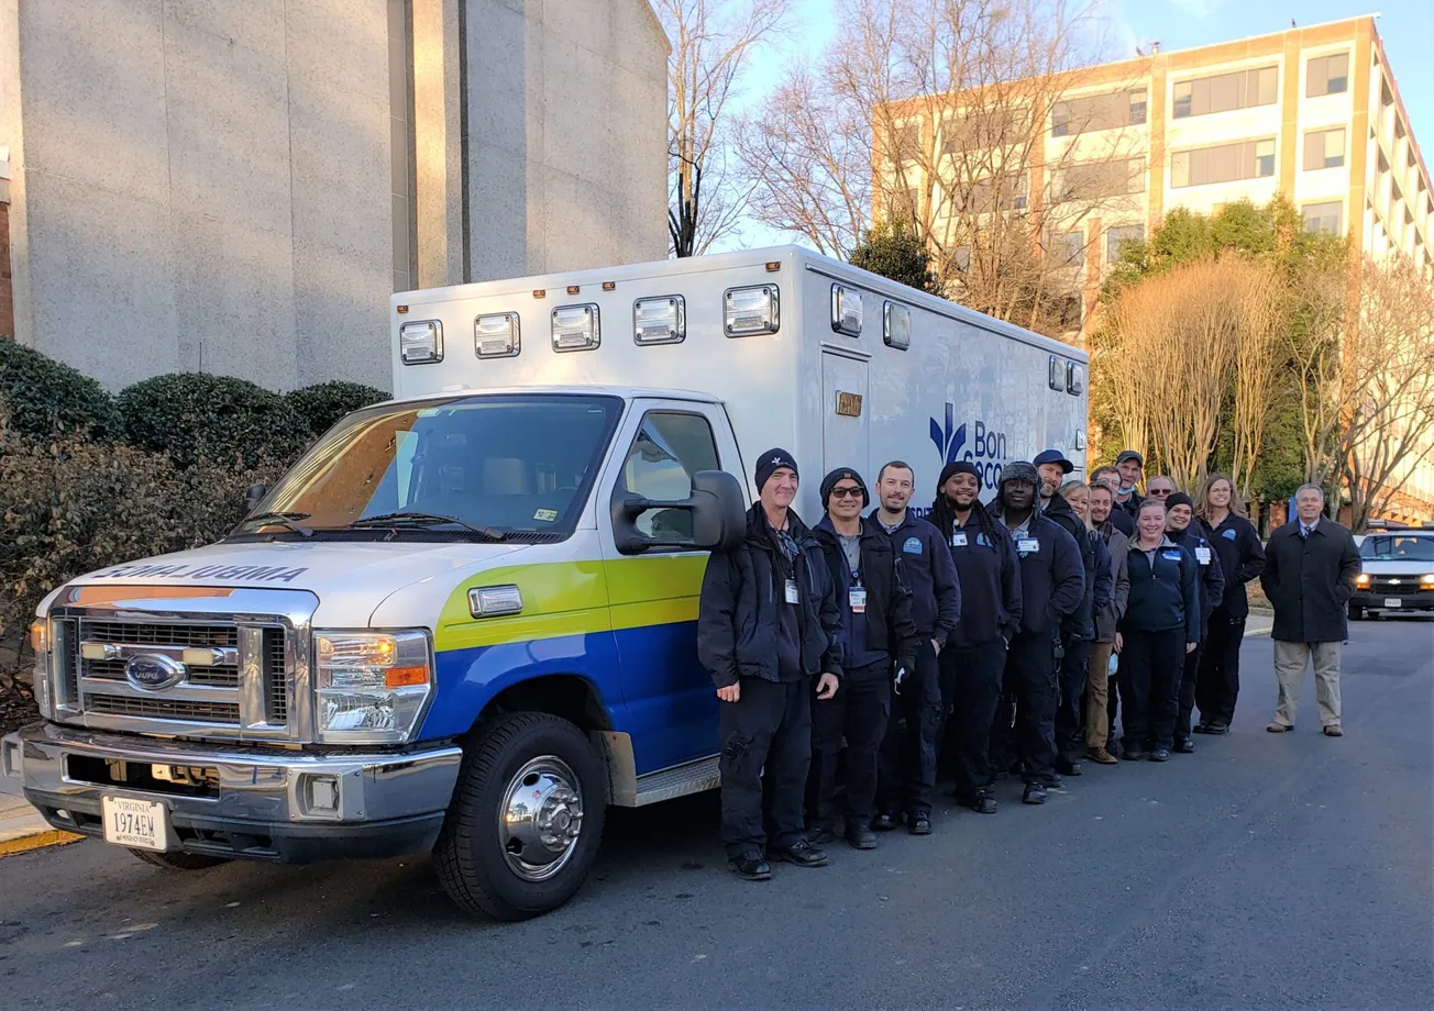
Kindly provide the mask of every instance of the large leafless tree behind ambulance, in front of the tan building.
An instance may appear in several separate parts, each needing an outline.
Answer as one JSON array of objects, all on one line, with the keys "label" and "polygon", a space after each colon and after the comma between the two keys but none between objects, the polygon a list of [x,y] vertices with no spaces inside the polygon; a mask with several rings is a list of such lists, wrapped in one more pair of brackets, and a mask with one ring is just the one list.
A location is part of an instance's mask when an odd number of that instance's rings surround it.
[{"label": "large leafless tree behind ambulance, in front of the tan building", "polygon": [[1076,70],[1101,50],[1093,10],[843,0],[846,29],[822,73],[789,76],[744,132],[754,216],[837,251],[870,218],[901,218],[962,302],[1065,329],[1080,316],[1093,221],[1143,221],[1129,127],[1144,122],[1146,95]]}]

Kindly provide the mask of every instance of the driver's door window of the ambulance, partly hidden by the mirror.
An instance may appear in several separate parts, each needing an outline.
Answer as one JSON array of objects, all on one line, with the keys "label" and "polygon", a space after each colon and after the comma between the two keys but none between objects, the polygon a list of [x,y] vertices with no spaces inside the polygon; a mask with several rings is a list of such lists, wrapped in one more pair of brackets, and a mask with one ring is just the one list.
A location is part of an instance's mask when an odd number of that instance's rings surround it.
[{"label": "driver's door window of the ambulance, partly hidden by the mirror", "polygon": [[[644,498],[677,501],[693,494],[693,474],[718,470],[711,425],[700,414],[648,411],[622,464],[622,487]],[[693,514],[650,508],[637,517],[645,537],[693,536]]]}]

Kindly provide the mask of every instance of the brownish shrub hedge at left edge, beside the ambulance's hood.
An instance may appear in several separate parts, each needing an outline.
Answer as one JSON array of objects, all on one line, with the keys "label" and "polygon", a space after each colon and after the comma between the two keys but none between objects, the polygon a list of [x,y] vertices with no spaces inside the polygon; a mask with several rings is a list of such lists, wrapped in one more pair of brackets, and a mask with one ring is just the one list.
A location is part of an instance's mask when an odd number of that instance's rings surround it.
[{"label": "brownish shrub hedge at left edge, beside the ambulance's hood", "polygon": [[129,445],[30,438],[0,401],[0,640],[76,576],[217,541],[244,518],[245,490],[281,470],[181,468]]}]

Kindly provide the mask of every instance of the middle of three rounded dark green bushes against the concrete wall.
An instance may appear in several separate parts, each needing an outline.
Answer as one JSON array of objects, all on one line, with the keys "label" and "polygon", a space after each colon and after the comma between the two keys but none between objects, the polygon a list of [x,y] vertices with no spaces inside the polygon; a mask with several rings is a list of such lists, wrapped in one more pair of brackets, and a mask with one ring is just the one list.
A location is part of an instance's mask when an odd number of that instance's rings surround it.
[{"label": "middle of three rounded dark green bushes against the concrete wall", "polygon": [[125,441],[166,453],[179,467],[290,463],[310,441],[308,425],[282,395],[227,375],[156,375],[120,391],[115,402]]}]

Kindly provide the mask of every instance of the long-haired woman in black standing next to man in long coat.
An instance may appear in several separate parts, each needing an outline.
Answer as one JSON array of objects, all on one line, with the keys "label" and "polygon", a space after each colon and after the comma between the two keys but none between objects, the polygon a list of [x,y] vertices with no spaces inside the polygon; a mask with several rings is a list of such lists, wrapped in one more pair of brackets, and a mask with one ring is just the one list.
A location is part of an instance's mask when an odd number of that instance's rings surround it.
[{"label": "long-haired woman in black standing next to man in long coat", "polygon": [[1210,474],[1195,497],[1195,514],[1210,531],[1210,543],[1225,573],[1225,596],[1210,616],[1210,634],[1200,657],[1195,705],[1200,707],[1196,733],[1229,733],[1235,699],[1240,693],[1240,642],[1249,617],[1245,584],[1265,571],[1265,548],[1245,504],[1235,495],[1235,481]]}]

